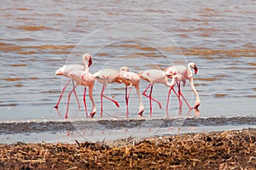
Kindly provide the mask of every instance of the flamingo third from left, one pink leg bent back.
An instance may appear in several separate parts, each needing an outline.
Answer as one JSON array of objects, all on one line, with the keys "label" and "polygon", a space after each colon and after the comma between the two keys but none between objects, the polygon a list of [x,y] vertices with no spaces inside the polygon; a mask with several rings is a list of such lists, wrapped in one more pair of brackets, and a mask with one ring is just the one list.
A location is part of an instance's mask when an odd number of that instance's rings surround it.
[{"label": "flamingo third from left, one pink leg bent back", "polygon": [[[96,77],[96,80],[98,82],[101,82],[103,84],[102,93],[101,93],[101,117],[102,117],[103,97],[111,100],[117,107],[119,107],[119,103],[116,100],[111,99],[104,94],[104,91],[107,88],[108,83],[113,83],[113,82],[122,83],[122,81],[121,81],[121,78],[119,77],[119,71],[114,70],[114,69],[103,69],[103,70],[100,70],[100,71],[97,71],[96,73],[94,73],[93,76]],[[90,115],[90,116],[93,117],[94,115]]]}]

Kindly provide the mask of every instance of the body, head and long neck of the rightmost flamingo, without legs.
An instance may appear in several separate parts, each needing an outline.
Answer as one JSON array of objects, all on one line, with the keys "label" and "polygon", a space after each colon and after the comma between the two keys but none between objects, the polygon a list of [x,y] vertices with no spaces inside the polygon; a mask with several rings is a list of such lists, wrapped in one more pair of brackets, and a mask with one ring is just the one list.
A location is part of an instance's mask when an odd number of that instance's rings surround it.
[{"label": "body, head and long neck of the rightmost flamingo, without legs", "polygon": [[166,70],[164,72],[166,73],[167,77],[172,77],[173,75],[180,74],[185,79],[189,80],[190,87],[192,88],[192,91],[195,93],[195,105],[191,109],[197,109],[199,107],[199,105],[201,105],[201,101],[199,98],[199,94],[197,93],[195,86],[194,86],[193,71],[191,70],[191,68],[194,69],[195,75],[196,75],[198,69],[194,62],[190,62],[187,66],[173,65],[173,66],[166,68]]}]

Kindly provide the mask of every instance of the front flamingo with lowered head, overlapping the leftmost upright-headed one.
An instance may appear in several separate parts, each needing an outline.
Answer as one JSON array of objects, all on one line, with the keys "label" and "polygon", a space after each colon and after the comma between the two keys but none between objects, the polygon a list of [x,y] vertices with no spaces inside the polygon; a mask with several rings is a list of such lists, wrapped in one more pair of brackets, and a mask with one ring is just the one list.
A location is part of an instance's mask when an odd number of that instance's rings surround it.
[{"label": "front flamingo with lowered head, overlapping the leftmost upright-headed one", "polygon": [[[82,86],[84,86],[84,107],[85,107],[86,116],[88,116],[87,106],[86,106],[86,102],[85,102],[86,87],[89,87],[89,97],[90,97],[90,101],[91,101],[91,104],[92,104],[90,115],[95,115],[96,114],[96,105],[95,105],[95,102],[94,102],[94,99],[93,99],[93,96],[92,96],[95,77],[92,74],[90,74],[90,72],[88,70],[85,70],[85,71],[79,71],[79,70],[70,71],[69,74],[68,74],[68,77],[71,77],[76,82],[76,85],[73,87],[73,90],[71,90],[71,92],[67,96],[67,112],[68,112],[68,106],[69,106],[71,94],[73,92],[75,92],[75,88],[78,85],[82,85]],[[65,114],[65,118],[67,118],[67,112]]]}]

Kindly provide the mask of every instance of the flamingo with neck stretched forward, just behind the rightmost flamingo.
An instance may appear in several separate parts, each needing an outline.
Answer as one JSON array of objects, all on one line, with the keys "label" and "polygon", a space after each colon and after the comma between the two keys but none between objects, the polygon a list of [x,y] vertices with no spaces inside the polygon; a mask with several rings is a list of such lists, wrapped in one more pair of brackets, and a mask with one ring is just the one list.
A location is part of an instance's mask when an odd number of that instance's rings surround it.
[{"label": "flamingo with neck stretched forward, just behind the rightmost flamingo", "polygon": [[[161,105],[160,101],[152,98],[152,90],[153,90],[154,83],[162,83],[162,84],[165,84],[166,87],[173,88],[173,86],[176,83],[177,78],[179,78],[180,80],[183,80],[182,76],[175,77],[175,78],[172,78],[172,82],[170,83],[170,82],[168,82],[168,78],[164,71],[155,70],[155,69],[140,71],[139,77],[141,77],[143,80],[146,80],[147,82],[149,82],[148,87],[145,88],[143,91],[143,95],[149,99],[150,116],[152,116],[152,100],[154,100],[156,103],[158,103],[160,109],[162,109],[162,105]],[[150,88],[149,95],[146,94],[146,92],[148,91],[148,88]],[[171,90],[169,90],[169,92],[171,92]]]}]

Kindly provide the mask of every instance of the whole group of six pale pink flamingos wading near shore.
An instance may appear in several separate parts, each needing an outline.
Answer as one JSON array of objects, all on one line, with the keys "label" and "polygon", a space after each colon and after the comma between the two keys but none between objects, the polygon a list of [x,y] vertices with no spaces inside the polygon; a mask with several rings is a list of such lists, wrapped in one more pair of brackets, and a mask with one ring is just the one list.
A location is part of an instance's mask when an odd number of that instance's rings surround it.
[{"label": "whole group of six pale pink flamingos wading near shore", "polygon": [[[61,101],[62,94],[67,88],[68,83],[73,81],[73,89],[71,90],[71,92],[68,94],[68,97],[67,97],[67,112],[65,114],[65,118],[67,118],[68,106],[69,106],[71,94],[75,94],[75,97],[79,103],[79,99],[75,91],[75,88],[79,85],[84,86],[83,100],[84,100],[86,116],[88,116],[87,106],[85,102],[85,93],[86,93],[87,87],[89,87],[89,97],[92,104],[92,108],[90,110],[90,117],[95,116],[96,105],[92,95],[95,79],[98,82],[101,82],[103,84],[102,93],[101,93],[101,117],[102,117],[102,111],[103,111],[102,110],[103,97],[105,99],[111,100],[117,107],[119,107],[119,103],[116,100],[111,99],[110,97],[104,95],[104,90],[107,88],[108,83],[113,83],[113,82],[125,83],[126,117],[129,117],[128,102],[129,102],[129,96],[130,96],[132,86],[136,88],[137,96],[139,99],[138,116],[143,116],[144,106],[142,101],[142,95],[139,89],[140,79],[143,79],[149,82],[148,87],[145,88],[143,91],[143,95],[149,99],[150,116],[152,116],[152,100],[159,105],[160,109],[162,109],[162,105],[160,101],[152,97],[152,90],[153,90],[154,83],[163,83],[166,85],[166,87],[169,88],[168,99],[166,103],[166,113],[168,111],[169,99],[172,91],[177,96],[177,99],[179,101],[179,107],[182,106],[181,98],[183,98],[186,105],[188,105],[189,111],[192,109],[197,109],[201,104],[199,95],[195,89],[194,82],[193,82],[193,71],[191,69],[194,69],[195,74],[197,73],[197,67],[193,62],[190,62],[187,66],[172,65],[166,68],[165,71],[152,69],[152,70],[140,71],[139,73],[135,73],[135,72],[129,71],[129,68],[127,66],[123,66],[119,69],[119,71],[114,69],[103,69],[103,70],[97,71],[94,74],[91,74],[89,71],[89,67],[92,64],[91,55],[84,54],[82,59],[83,59],[84,65],[64,65],[60,69],[55,71],[55,75],[61,75],[61,76],[70,78],[66,83],[66,85],[62,88],[60,98],[57,104],[55,105],[55,108],[58,108],[58,105],[60,104],[60,101]],[[168,78],[171,78],[172,82],[168,82]],[[189,103],[184,98],[181,92],[181,82],[183,82],[183,86],[185,86],[186,80],[189,80],[190,87],[192,88],[192,91],[195,93],[196,98],[195,98],[195,105],[193,107],[189,106]],[[76,83],[74,84],[74,82]],[[175,85],[177,85],[178,92],[176,92],[174,89]],[[150,88],[149,94],[146,94],[149,88]]]}]

